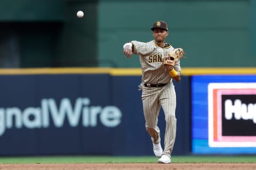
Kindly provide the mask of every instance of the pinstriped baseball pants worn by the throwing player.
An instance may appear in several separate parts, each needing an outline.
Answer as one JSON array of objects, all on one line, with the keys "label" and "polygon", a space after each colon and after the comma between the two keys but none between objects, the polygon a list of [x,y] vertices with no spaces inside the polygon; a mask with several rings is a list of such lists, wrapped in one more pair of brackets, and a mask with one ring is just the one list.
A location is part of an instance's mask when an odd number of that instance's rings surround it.
[{"label": "pinstriped baseball pants worn by the throwing player", "polygon": [[153,128],[158,133],[158,139],[151,137],[154,143],[160,142],[160,130],[157,126],[159,111],[162,107],[165,114],[165,136],[163,155],[171,155],[176,137],[176,93],[172,83],[161,88],[142,89],[143,112],[146,128]]}]

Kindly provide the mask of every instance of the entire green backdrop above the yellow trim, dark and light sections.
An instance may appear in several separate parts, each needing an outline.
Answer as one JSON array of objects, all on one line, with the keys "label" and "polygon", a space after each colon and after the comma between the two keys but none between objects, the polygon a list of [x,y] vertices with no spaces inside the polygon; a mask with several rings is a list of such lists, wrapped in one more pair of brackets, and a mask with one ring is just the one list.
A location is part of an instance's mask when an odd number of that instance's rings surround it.
[{"label": "entire green backdrop above the yellow trim, dark and light sections", "polygon": [[0,67],[140,67],[123,44],[152,40],[157,20],[185,49],[182,67],[256,65],[254,0],[9,0],[0,1]]}]

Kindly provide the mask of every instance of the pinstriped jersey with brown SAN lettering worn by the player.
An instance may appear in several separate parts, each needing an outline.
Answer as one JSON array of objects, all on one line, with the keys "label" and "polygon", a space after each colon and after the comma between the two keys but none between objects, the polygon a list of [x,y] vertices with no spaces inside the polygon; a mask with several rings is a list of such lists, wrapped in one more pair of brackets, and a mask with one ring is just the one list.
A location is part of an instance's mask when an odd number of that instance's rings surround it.
[{"label": "pinstriped jersey with brown SAN lettering worn by the player", "polygon": [[[170,53],[174,48],[167,43],[165,43],[165,47],[159,47],[155,40],[148,43],[140,41],[131,41],[131,43],[134,45],[133,54],[140,55],[142,83],[170,83],[172,77],[162,62],[166,53]],[[177,72],[181,72],[180,61],[174,65],[174,69]]]}]

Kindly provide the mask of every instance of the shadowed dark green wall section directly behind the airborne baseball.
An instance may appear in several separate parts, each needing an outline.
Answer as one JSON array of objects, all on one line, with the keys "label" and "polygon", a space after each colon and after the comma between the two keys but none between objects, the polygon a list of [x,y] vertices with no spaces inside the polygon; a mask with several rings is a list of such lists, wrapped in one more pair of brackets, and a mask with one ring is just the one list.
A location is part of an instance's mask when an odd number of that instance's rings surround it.
[{"label": "shadowed dark green wall section directly behind the airborne baseball", "polygon": [[[67,1],[58,39],[57,66],[97,66],[97,7],[97,1]],[[79,10],[84,12],[83,18],[77,18]]]}]

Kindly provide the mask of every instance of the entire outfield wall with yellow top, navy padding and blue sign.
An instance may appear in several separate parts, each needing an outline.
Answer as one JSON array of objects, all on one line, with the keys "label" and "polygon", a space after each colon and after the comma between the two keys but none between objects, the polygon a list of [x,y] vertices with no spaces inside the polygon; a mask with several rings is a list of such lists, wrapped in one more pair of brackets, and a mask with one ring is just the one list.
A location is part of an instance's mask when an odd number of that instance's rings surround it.
[{"label": "entire outfield wall with yellow top, navy padding and blue sign", "polygon": [[[182,74],[173,155],[256,154],[256,69]],[[140,69],[4,69],[0,81],[0,156],[153,155]]]}]

